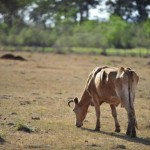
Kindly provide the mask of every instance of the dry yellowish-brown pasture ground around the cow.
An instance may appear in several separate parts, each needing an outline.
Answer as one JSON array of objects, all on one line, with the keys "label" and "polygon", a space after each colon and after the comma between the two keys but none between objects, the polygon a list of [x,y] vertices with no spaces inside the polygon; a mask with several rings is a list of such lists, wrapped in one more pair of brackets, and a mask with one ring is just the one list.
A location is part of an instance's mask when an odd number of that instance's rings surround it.
[{"label": "dry yellowish-brown pasture ground around the cow", "polygon": [[[6,52],[0,52],[0,56]],[[0,59],[0,149],[150,149],[150,59],[13,52],[27,61]],[[97,66],[125,66],[140,76],[135,109],[137,138],[125,135],[126,111],[118,106],[121,133],[114,132],[108,104],[101,106],[101,131],[90,107],[83,128],[67,102],[81,97],[88,74]],[[33,132],[18,131],[27,125]]]}]

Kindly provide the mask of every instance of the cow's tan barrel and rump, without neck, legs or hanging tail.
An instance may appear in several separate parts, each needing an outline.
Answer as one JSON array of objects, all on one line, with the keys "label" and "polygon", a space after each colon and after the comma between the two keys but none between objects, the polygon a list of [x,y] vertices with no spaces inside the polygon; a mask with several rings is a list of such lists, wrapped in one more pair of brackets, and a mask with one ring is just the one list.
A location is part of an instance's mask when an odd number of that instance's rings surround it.
[{"label": "cow's tan barrel and rump, without neck, legs or hanging tail", "polygon": [[[129,101],[129,90],[131,99],[134,100],[135,88],[138,82],[137,74],[129,68],[106,67],[101,69],[94,78],[96,92],[100,100],[118,105]],[[131,87],[129,89],[129,87]]]}]

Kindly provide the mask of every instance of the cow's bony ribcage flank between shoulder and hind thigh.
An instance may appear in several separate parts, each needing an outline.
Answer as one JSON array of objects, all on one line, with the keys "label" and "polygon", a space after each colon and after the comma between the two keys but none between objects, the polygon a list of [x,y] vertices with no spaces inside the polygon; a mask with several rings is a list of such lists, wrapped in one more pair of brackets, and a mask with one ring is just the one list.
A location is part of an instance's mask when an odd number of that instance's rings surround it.
[{"label": "cow's bony ribcage flank between shoulder and hind thigh", "polygon": [[118,68],[107,67],[95,75],[95,91],[97,92],[100,101],[115,105],[120,103],[120,99],[115,90],[117,71]]}]

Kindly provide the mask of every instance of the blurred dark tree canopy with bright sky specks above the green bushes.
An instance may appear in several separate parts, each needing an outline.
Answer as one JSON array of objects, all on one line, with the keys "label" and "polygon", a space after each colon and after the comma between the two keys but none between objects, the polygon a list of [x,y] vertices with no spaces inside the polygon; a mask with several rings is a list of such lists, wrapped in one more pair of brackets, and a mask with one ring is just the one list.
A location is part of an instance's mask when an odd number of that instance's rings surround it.
[{"label": "blurred dark tree canopy with bright sky specks above the green bushes", "polygon": [[9,26],[16,20],[23,22],[26,17],[43,25],[48,21],[82,23],[89,19],[90,8],[102,2],[106,3],[104,9],[110,16],[120,16],[127,21],[145,21],[150,16],[149,0],[0,0],[0,14]]}]

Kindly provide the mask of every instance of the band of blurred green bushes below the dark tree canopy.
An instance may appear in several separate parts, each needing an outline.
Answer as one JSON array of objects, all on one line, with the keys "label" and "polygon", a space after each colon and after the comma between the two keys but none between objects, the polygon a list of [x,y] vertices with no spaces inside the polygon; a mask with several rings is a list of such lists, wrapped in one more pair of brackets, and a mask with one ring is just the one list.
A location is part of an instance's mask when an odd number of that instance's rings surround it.
[{"label": "band of blurred green bushes below the dark tree canopy", "polygon": [[135,48],[150,47],[150,20],[141,23],[126,22],[112,16],[109,21],[85,21],[44,28],[24,26],[9,28],[0,25],[0,44],[41,47],[95,47]]}]

